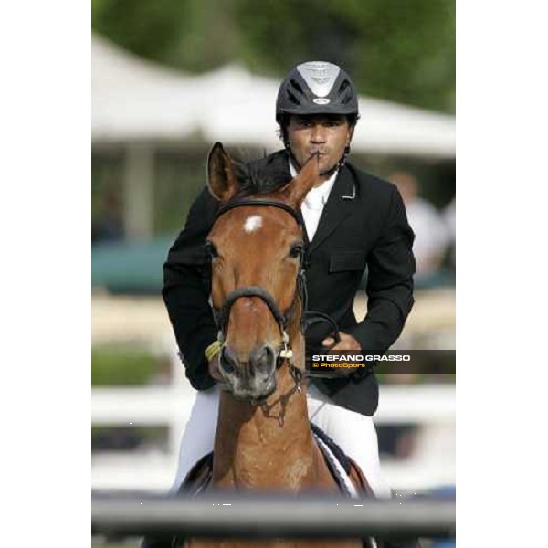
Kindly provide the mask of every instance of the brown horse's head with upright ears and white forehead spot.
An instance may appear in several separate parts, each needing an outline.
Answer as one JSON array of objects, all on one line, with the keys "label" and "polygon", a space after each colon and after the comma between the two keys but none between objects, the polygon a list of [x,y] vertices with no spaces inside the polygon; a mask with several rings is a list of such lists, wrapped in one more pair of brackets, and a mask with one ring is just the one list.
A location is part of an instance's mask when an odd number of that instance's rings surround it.
[{"label": "brown horse's head with upright ears and white forehead spot", "polygon": [[304,239],[297,212],[318,177],[312,157],[290,184],[243,198],[223,146],[209,154],[209,191],[222,203],[207,237],[223,342],[219,368],[237,399],[260,401],[276,390],[279,354],[300,335]]}]

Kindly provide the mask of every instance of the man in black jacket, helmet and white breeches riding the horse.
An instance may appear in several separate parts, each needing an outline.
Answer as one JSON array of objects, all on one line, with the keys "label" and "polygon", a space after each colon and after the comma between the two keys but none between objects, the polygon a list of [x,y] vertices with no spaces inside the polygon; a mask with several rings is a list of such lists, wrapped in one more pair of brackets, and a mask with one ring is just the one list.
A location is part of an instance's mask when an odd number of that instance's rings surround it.
[{"label": "man in black jacket, helmet and white breeches riding the horse", "polygon": [[[262,194],[288,184],[312,156],[318,157],[318,184],[300,208],[307,239],[308,308],[332,318],[340,342],[331,336],[331,323],[313,322],[305,333],[307,349],[384,353],[401,333],[414,302],[414,234],[402,198],[393,184],[347,162],[358,118],[353,81],[342,68],[328,62],[300,64],[279,87],[276,120],[284,149],[245,166],[251,174],[248,184]],[[197,390],[173,490],[214,447],[217,382],[230,368],[217,341],[210,305],[211,256],[205,245],[218,209],[218,200],[205,188],[164,264],[163,300],[186,376]],[[365,269],[367,313],[357,322],[353,300]],[[376,497],[389,497],[372,419],[378,404],[374,374],[312,378],[307,397],[311,422],[359,465]]]}]

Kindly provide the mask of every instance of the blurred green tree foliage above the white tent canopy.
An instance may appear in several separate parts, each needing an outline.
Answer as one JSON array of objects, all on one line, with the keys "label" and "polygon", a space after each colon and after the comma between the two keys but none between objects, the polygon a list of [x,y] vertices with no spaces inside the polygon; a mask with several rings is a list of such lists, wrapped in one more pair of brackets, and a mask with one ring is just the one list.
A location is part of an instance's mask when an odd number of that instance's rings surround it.
[{"label": "blurred green tree foliage above the white tent canopy", "polygon": [[454,0],[93,0],[92,24],[175,68],[238,61],[281,78],[324,59],[346,68],[361,93],[455,108]]}]

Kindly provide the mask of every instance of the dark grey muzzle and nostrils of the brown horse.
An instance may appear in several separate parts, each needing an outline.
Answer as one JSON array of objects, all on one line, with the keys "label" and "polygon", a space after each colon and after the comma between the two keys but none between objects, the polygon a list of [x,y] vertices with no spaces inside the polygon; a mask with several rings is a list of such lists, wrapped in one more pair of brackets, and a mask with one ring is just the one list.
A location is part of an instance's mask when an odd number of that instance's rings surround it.
[{"label": "dark grey muzzle and nostrils of the brown horse", "polygon": [[276,390],[276,353],[268,344],[252,350],[246,362],[240,361],[225,344],[219,356],[219,370],[238,400],[264,400]]}]

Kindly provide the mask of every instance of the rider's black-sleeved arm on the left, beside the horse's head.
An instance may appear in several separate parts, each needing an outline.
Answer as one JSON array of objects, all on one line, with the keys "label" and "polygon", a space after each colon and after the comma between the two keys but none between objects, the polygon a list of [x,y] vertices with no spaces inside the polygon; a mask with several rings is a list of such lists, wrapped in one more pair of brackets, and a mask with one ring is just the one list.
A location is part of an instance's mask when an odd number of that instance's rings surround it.
[{"label": "rider's black-sleeved arm on the left, beside the horse's head", "polygon": [[211,260],[204,244],[215,213],[216,201],[204,189],[163,265],[163,300],[183,354],[186,376],[197,390],[214,385],[205,359],[205,349],[216,340],[217,330],[208,302]]}]

